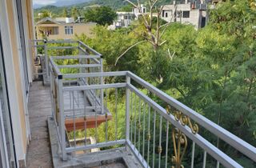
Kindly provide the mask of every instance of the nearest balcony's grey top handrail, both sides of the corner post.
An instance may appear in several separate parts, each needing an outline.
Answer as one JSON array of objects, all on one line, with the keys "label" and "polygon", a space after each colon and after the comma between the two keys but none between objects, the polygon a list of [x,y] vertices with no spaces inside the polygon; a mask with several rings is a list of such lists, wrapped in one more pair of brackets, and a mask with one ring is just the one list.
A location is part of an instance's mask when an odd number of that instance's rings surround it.
[{"label": "nearest balcony's grey top handrail, both sides of the corner post", "polygon": [[[206,128],[206,130],[209,130],[212,134],[216,135],[218,138],[221,138],[224,142],[229,143],[230,146],[233,146],[234,149],[240,151],[242,154],[245,154],[247,157],[249,157],[254,162],[256,162],[256,148],[254,146],[243,141],[241,138],[238,138],[236,135],[230,133],[228,130],[225,130],[221,126],[218,126],[216,123],[202,116],[202,114],[198,114],[196,111],[190,109],[190,107],[182,104],[182,102],[178,102],[178,100],[170,97],[170,95],[164,93],[162,90],[159,90],[155,86],[151,85],[149,82],[146,82],[145,80],[138,77],[136,74],[131,73],[130,71],[63,74],[63,78],[83,78],[83,77],[86,78],[86,77],[108,77],[108,76],[129,76],[132,80],[134,80],[134,82],[137,82],[141,86],[145,87],[147,90],[150,90],[150,92],[157,95],[166,103],[170,104],[170,106],[173,106],[177,110],[180,110],[183,114],[185,114],[186,116],[194,120],[194,122],[198,122],[200,126]],[[77,87],[79,88],[79,86]],[[88,87],[88,86],[83,86],[83,87]],[[90,87],[94,88],[94,86],[90,86]],[[66,90],[68,90],[68,88],[66,88]],[[166,113],[166,110],[164,111]]]}]

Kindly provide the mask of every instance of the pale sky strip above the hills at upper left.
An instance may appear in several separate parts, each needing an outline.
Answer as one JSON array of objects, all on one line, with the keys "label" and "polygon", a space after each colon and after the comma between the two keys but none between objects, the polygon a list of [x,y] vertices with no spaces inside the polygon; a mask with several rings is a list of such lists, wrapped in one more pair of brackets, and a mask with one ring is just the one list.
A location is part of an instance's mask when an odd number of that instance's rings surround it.
[{"label": "pale sky strip above the hills at upper left", "polygon": [[88,2],[90,0],[33,0],[34,8],[42,6],[70,6],[77,3]]}]

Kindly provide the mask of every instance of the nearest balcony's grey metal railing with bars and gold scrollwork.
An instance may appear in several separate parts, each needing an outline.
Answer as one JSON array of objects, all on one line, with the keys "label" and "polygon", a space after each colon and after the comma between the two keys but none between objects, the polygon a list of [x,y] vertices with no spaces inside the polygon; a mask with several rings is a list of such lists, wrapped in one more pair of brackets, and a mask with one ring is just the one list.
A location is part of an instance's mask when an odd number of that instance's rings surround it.
[{"label": "nearest balcony's grey metal railing with bars and gold scrollwork", "polygon": [[[75,151],[126,146],[144,167],[242,167],[236,157],[208,141],[207,132],[255,164],[254,146],[137,75],[88,68],[94,67],[86,63],[62,66],[58,57],[50,58],[54,119],[63,160]],[[73,74],[63,69],[78,71]],[[94,136],[96,143],[87,144],[88,136]],[[81,137],[85,142],[76,144]]]}]

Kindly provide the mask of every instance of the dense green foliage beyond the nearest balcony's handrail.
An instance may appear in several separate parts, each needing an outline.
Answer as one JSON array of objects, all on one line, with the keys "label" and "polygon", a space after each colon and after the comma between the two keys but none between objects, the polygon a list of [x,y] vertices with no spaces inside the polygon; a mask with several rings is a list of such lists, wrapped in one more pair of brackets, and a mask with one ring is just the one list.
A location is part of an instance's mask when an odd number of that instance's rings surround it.
[{"label": "dense green foliage beyond the nearest balcony's handrail", "polygon": [[[94,38],[78,37],[104,55],[106,70],[131,70],[174,98],[256,145],[256,10],[250,1],[218,3],[210,10],[210,22],[201,30],[172,24],[155,50],[142,43],[115,60],[129,46],[142,40],[143,26],[106,30],[98,26]],[[241,154],[212,134],[200,134],[246,167]],[[196,154],[202,158],[202,154]]]}]

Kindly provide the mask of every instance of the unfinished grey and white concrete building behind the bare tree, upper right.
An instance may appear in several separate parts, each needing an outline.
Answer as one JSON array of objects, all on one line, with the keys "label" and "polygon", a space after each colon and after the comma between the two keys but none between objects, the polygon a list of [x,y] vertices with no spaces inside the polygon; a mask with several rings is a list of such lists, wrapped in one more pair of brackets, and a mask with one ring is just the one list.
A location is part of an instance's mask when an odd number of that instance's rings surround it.
[{"label": "unfinished grey and white concrete building behind the bare tree, upper right", "polygon": [[184,4],[162,6],[161,18],[166,22],[181,22],[192,24],[196,29],[206,26],[208,19],[206,1],[185,1]]}]

